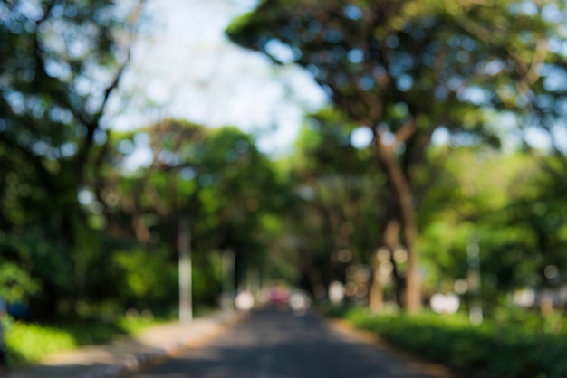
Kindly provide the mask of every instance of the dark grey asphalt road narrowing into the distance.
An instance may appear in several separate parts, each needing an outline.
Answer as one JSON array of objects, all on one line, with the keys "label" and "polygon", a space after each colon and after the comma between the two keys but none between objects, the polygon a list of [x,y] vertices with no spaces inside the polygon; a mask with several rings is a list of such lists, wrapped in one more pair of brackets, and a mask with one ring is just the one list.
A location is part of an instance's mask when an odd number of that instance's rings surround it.
[{"label": "dark grey asphalt road narrowing into the distance", "polygon": [[136,378],[438,378],[307,313],[266,308]]}]

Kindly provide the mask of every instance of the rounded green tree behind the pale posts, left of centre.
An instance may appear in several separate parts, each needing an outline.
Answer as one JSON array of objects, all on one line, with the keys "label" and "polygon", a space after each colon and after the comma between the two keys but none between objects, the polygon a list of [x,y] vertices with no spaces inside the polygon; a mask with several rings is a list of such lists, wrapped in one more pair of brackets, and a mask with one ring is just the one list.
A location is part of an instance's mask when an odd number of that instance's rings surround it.
[{"label": "rounded green tree behind the pale posts, left of centre", "polygon": [[[144,165],[129,166],[136,151],[149,158]],[[115,237],[143,246],[128,264],[139,265],[143,256],[151,261],[154,255],[177,263],[183,215],[191,220],[196,302],[216,304],[226,250],[235,256],[232,287],[245,285],[251,272],[263,267],[272,239],[264,218],[281,210],[281,187],[270,161],[241,130],[165,119],[115,134],[102,168],[95,186],[102,223]]]}]

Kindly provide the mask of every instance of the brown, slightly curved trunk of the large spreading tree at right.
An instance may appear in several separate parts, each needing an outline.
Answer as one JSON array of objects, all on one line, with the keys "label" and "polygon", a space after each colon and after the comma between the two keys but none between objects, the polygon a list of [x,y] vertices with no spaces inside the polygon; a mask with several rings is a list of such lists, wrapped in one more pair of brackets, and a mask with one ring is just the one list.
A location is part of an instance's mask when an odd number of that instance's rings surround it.
[{"label": "brown, slightly curved trunk of the large spreading tree at right", "polygon": [[402,240],[408,250],[408,275],[404,307],[408,312],[417,312],[421,308],[421,285],[418,274],[418,258],[415,241],[418,234],[416,209],[407,176],[394,156],[393,146],[385,145],[377,139],[380,163],[386,169],[389,182],[392,185],[396,202],[399,206],[399,216],[402,227]]}]

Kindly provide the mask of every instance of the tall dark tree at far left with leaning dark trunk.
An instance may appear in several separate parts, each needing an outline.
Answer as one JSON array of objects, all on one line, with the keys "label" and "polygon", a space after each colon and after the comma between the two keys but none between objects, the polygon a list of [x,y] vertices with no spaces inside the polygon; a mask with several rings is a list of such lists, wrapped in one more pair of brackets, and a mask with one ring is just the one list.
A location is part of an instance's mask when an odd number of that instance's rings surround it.
[{"label": "tall dark tree at far left with leaning dark trunk", "polygon": [[0,201],[11,203],[2,206],[0,225],[65,250],[74,270],[54,273],[74,276],[66,288],[57,279],[44,281],[37,301],[46,317],[58,298],[76,299],[84,284],[93,247],[82,240],[89,227],[78,197],[108,140],[105,109],[129,61],[140,6],[111,0],[0,5]]}]

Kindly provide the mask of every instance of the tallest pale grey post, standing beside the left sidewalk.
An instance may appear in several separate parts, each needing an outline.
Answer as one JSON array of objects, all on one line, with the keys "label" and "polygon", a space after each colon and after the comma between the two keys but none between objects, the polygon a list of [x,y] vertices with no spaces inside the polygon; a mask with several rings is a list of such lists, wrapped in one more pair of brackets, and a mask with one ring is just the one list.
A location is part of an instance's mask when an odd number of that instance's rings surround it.
[{"label": "tallest pale grey post, standing beside the left sidewalk", "polygon": [[179,218],[179,321],[193,320],[193,296],[191,278],[191,224],[187,215]]}]

